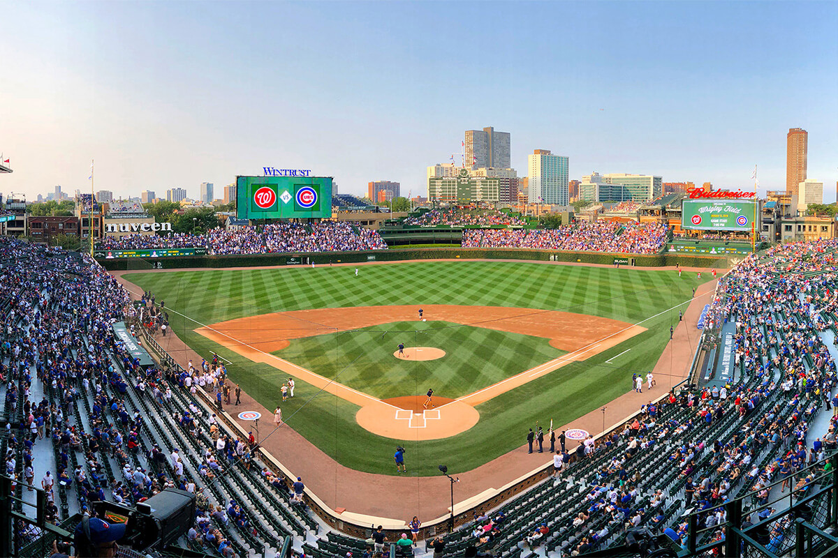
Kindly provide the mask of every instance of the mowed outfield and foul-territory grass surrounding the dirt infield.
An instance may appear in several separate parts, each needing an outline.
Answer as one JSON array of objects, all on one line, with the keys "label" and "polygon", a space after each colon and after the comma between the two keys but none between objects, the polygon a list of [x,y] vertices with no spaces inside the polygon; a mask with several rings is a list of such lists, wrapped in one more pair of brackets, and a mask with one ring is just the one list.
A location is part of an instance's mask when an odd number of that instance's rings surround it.
[{"label": "mowed outfield and foul-territory grass surrounding the dirt infield", "polygon": [[[126,277],[141,289],[151,289],[158,301],[166,301],[173,331],[195,351],[203,356],[217,351],[229,359],[232,380],[269,409],[276,405],[278,386],[287,374],[249,361],[194,333],[195,328],[283,310],[432,304],[564,310],[634,324],[690,299],[692,289],[703,282],[695,274],[679,278],[675,271],[510,262],[375,264],[360,266],[358,277],[354,266],[211,269]],[[708,279],[706,274],[704,280]],[[410,474],[438,474],[439,463],[447,463],[458,473],[525,443],[527,428],[536,420],[565,424],[628,392],[632,372],[649,371],[654,366],[669,341],[670,325],[677,321],[678,310],[667,311],[645,321],[648,330],[633,339],[494,397],[477,407],[477,425],[452,438],[418,442],[375,436],[355,422],[359,407],[318,392],[303,381],[297,381],[297,397],[283,404],[283,415],[289,426],[351,468],[394,474],[393,448],[401,443],[408,450]],[[485,349],[478,341],[465,340],[458,347],[463,353],[477,355]],[[631,351],[606,363],[627,349]],[[388,350],[395,351],[395,347],[388,346]],[[498,362],[489,360],[496,367],[506,367],[500,356]],[[506,372],[512,373],[515,371]],[[413,376],[399,386],[406,393],[427,389]],[[618,418],[608,417],[608,423]]]}]

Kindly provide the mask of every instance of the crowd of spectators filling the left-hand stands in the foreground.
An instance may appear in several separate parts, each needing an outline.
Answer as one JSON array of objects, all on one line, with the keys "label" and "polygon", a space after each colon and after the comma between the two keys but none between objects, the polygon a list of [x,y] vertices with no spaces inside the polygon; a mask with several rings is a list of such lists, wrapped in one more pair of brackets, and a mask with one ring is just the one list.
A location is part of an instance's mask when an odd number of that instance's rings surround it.
[{"label": "crowd of spectators filling the left-hand stands in the foreground", "polygon": [[[270,543],[278,550],[277,535],[255,519],[251,496],[230,499],[236,494],[218,483],[230,468],[258,470],[255,439],[222,427],[194,397],[187,405],[196,390],[217,397],[219,407],[230,403],[234,387],[224,367],[217,360],[190,361],[180,373],[140,366],[111,325],[136,319],[133,335],[165,323],[163,302],[154,305],[153,295],[143,294],[137,310],[87,254],[9,237],[0,237],[0,253],[3,474],[17,481],[18,497],[28,492],[21,481],[39,485],[45,519],[58,523],[70,515],[74,496],[79,513],[96,519],[96,502],[133,506],[163,489],[182,489],[196,496],[186,535],[194,550],[237,558],[246,549],[242,541],[256,538],[264,541],[253,543],[259,548]],[[176,440],[184,439],[180,451]],[[266,471],[256,479],[291,499],[282,475]],[[14,529],[20,544],[40,535],[22,521]]]}]

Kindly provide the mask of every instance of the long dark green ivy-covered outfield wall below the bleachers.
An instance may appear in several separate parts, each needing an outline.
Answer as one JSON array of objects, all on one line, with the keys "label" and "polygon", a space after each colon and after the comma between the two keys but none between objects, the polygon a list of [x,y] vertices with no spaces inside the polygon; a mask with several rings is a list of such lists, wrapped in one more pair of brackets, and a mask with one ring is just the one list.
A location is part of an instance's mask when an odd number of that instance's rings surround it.
[{"label": "long dark green ivy-covered outfield wall below the bleachers", "polygon": [[179,268],[235,268],[270,265],[303,264],[357,264],[368,261],[391,262],[410,259],[520,259],[535,261],[581,262],[583,264],[613,265],[615,259],[627,264],[634,259],[634,265],[661,267],[680,264],[681,267],[727,268],[732,259],[660,253],[633,255],[602,252],[559,252],[555,250],[523,250],[520,248],[391,248],[366,252],[319,252],[319,253],[263,253],[229,256],[185,256],[164,259],[99,259],[105,269],[163,269]]}]

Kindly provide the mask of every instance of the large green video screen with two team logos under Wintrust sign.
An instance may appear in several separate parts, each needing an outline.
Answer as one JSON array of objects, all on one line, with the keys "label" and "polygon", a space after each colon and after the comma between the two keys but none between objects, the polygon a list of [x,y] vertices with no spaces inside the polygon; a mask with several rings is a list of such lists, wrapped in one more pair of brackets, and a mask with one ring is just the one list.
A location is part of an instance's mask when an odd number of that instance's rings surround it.
[{"label": "large green video screen with two team logos under Wintrust sign", "polygon": [[332,217],[332,177],[235,177],[240,219]]}]

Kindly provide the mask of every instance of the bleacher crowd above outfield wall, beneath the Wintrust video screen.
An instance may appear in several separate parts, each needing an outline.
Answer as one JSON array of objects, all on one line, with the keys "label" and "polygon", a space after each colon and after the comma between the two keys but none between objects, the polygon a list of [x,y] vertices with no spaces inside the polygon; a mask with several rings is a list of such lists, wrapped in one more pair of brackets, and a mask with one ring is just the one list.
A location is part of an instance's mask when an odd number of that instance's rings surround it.
[{"label": "bleacher crowd above outfield wall, beneath the Wintrust video screen", "polygon": [[128,234],[102,238],[104,250],[141,248],[208,248],[211,254],[331,252],[383,250],[387,244],[377,231],[351,223],[272,223],[235,229],[214,228],[206,234]]}]

